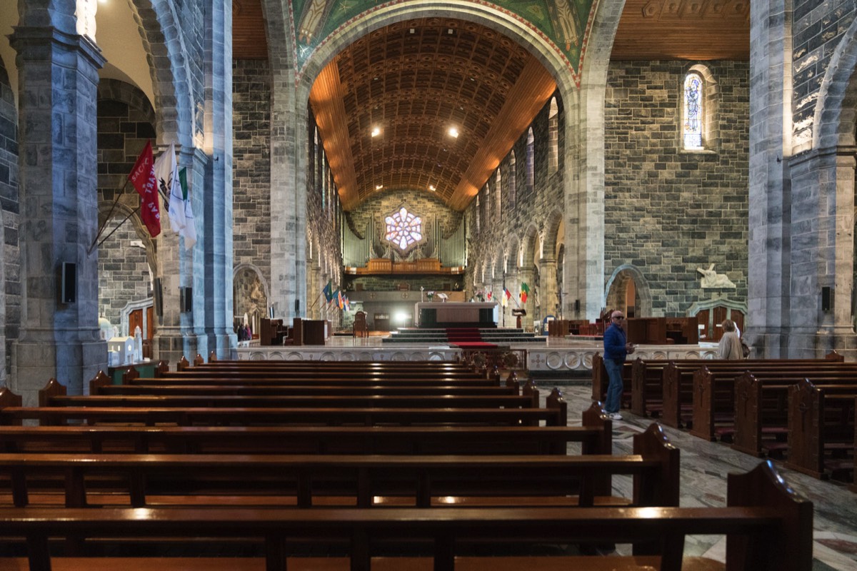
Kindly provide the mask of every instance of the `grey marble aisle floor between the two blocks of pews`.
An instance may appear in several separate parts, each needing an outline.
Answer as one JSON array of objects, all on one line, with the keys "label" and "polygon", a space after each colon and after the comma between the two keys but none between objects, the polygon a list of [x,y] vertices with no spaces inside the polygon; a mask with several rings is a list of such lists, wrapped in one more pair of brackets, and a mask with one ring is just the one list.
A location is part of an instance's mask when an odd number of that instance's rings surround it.
[{"label": "grey marble aisle floor between the two blocks of pews", "polygon": [[[570,425],[580,424],[581,413],[591,404],[589,384],[541,381],[542,399],[556,386],[568,402]],[[614,454],[631,454],[632,435],[644,431],[652,419],[621,411],[622,419],[613,423]],[[746,472],[760,461],[751,455],[736,452],[726,444],[710,443],[689,433],[664,427],[670,441],[681,451],[680,505],[726,505],[726,475]],[[776,464],[777,470],[801,496],[812,500],[814,506],[813,571],[857,571],[857,493],[845,485],[814,479]],[[614,478],[616,495],[630,497],[631,479]],[[619,546],[622,552],[626,546]],[[726,540],[716,536],[691,536],[686,539],[688,555],[704,555],[725,561]]]}]

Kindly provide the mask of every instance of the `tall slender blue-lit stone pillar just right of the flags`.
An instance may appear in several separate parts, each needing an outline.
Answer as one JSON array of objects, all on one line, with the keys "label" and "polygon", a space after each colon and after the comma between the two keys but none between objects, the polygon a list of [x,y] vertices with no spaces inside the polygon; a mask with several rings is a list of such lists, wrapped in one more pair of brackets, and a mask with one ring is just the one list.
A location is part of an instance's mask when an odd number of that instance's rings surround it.
[{"label": "tall slender blue-lit stone pillar just right of the flags", "polygon": [[[232,331],[232,8],[213,2],[205,14],[205,200],[202,208],[207,347],[219,358],[237,348]],[[196,213],[196,212],[195,212]]]}]

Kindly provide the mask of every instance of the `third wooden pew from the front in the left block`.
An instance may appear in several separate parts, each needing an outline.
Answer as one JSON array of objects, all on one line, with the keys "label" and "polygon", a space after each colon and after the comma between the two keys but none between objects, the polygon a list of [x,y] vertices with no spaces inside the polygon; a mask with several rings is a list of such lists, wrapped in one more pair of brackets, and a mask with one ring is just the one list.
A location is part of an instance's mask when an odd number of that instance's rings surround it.
[{"label": "third wooden pew from the front in the left block", "polygon": [[597,403],[579,426],[3,426],[3,452],[246,454],[610,454]]}]

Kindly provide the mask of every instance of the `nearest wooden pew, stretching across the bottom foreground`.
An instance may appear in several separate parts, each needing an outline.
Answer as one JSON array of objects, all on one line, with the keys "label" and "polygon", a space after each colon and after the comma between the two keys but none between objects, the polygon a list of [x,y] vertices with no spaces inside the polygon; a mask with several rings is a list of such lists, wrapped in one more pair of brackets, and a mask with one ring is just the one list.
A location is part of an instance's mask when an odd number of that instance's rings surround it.
[{"label": "nearest wooden pew, stretching across the bottom foreground", "polygon": [[[486,541],[616,541],[633,544],[635,555],[654,551],[655,558],[560,557],[561,568],[606,571],[646,562],[662,571],[696,571],[712,568],[711,562],[683,562],[685,537],[711,533],[727,534],[727,571],[812,567],[812,503],[795,497],[770,463],[750,473],[729,474],[725,508],[0,509],[0,536],[26,541],[32,571],[51,569],[51,557],[57,558],[51,554],[51,538],[114,538],[127,544],[165,536],[264,541],[267,571],[285,569],[287,546],[307,538],[348,545],[351,571],[369,571],[379,542],[401,538],[422,539],[435,571],[470,569],[469,559],[457,556],[468,545]],[[480,568],[488,563],[505,570],[510,568],[505,561],[491,557]],[[546,568],[550,561],[549,556],[526,557],[515,568]],[[87,558],[86,568],[105,570],[97,558]]]}]

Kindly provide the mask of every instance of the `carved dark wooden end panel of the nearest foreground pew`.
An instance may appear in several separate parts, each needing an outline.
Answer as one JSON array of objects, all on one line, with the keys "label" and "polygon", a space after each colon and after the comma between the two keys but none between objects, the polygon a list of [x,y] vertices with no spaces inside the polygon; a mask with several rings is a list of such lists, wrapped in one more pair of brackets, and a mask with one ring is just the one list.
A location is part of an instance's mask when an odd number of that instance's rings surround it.
[{"label": "carved dark wooden end panel of the nearest foreground pew", "polygon": [[782,518],[781,537],[777,540],[728,535],[727,568],[782,571],[812,568],[812,502],[799,497],[770,460],[761,462],[748,473],[728,474],[727,505],[767,506]]}]

